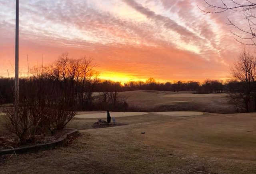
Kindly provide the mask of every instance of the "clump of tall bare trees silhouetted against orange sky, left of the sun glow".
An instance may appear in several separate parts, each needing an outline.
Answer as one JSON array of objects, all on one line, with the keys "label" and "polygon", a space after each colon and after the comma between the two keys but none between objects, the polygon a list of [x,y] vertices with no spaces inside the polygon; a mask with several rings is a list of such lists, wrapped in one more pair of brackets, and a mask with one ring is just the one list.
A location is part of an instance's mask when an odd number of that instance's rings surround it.
[{"label": "clump of tall bare trees silhouetted against orange sky, left of the sun glow", "polygon": [[[92,92],[97,83],[96,66],[92,58],[70,58],[68,53],[62,54],[58,60],[47,68],[48,76],[61,89],[59,96],[70,102],[70,106],[76,104],[78,109],[85,109],[92,102]],[[52,92],[53,94],[56,92]]]}]

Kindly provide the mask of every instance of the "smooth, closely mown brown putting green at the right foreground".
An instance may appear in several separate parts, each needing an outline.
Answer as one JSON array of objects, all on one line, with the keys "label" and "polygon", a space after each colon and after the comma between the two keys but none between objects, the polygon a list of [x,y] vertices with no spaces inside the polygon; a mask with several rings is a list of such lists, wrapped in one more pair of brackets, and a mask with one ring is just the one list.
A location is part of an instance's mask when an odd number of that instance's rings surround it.
[{"label": "smooth, closely mown brown putting green at the right foreground", "polygon": [[142,127],[150,134],[144,142],[161,148],[168,148],[171,144],[191,155],[196,153],[198,156],[254,161],[256,160],[255,118],[256,114],[253,113],[160,121],[156,125]]}]

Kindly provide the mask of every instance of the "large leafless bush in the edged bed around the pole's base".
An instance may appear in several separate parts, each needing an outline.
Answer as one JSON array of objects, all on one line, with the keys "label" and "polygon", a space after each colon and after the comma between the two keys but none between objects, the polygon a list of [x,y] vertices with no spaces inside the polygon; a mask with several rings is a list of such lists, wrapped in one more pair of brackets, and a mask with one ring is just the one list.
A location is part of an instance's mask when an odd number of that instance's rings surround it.
[{"label": "large leafless bush in the edged bed around the pole's base", "polygon": [[52,128],[63,129],[76,115],[70,109],[74,106],[74,96],[68,90],[58,90],[47,76],[30,77],[20,87],[18,114],[14,104],[3,106],[5,127],[18,136],[20,144],[33,142],[38,134],[52,134]]}]

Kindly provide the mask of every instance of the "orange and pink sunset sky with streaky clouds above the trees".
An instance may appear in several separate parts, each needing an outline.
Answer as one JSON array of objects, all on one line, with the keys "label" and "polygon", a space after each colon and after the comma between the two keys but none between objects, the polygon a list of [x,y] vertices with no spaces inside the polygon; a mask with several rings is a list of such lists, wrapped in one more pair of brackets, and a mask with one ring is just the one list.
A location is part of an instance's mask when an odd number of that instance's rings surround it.
[{"label": "orange and pink sunset sky with streaky clouds above the trees", "polygon": [[[68,52],[72,58],[93,58],[102,79],[225,80],[242,49],[230,33],[234,28],[226,24],[227,17],[244,23],[239,14],[204,14],[198,6],[206,4],[20,0],[20,75]],[[15,0],[0,0],[0,76],[14,76],[14,48]]]}]

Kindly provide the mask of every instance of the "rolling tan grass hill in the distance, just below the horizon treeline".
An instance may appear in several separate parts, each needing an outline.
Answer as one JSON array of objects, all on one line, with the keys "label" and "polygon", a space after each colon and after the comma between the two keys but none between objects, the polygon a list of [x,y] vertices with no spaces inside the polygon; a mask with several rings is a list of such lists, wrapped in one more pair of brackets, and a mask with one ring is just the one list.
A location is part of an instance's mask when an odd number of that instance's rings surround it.
[{"label": "rolling tan grass hill in the distance, just below the horizon treeline", "polygon": [[[119,96],[127,98],[129,106],[142,111],[202,111],[228,114],[236,110],[226,98],[227,94],[192,94],[169,91],[126,91]],[[181,102],[182,101],[182,102]],[[186,102],[184,102],[186,101]]]}]

